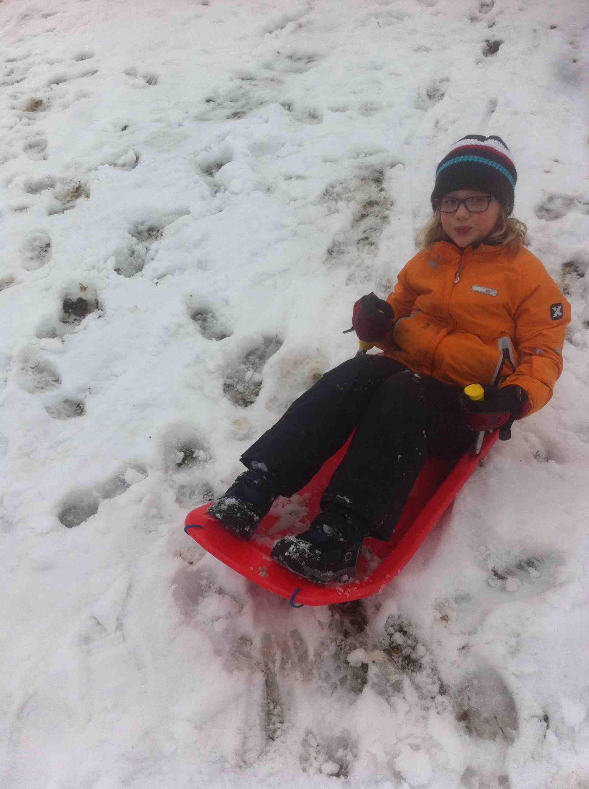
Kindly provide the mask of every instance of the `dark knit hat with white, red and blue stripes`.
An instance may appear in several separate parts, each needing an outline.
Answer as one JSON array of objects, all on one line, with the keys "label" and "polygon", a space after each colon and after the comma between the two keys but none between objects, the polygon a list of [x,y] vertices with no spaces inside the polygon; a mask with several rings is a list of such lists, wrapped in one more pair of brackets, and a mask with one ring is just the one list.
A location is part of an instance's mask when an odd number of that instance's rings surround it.
[{"label": "dark knit hat with white, red and blue stripes", "polygon": [[488,192],[513,211],[516,167],[509,148],[501,137],[468,134],[450,148],[435,171],[435,186],[431,193],[431,207],[436,210],[436,199],[458,189]]}]

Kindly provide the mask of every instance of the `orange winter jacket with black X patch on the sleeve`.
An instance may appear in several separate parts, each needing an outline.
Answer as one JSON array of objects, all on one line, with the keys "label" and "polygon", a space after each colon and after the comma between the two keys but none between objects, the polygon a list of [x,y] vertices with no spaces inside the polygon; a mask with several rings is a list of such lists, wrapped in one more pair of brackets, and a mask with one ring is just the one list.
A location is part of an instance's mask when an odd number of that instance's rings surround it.
[{"label": "orange winter jacket with black X patch on the sleeve", "polygon": [[397,319],[378,347],[445,383],[517,383],[532,412],[552,397],[571,320],[537,257],[505,245],[438,241],[402,269],[387,301]]}]

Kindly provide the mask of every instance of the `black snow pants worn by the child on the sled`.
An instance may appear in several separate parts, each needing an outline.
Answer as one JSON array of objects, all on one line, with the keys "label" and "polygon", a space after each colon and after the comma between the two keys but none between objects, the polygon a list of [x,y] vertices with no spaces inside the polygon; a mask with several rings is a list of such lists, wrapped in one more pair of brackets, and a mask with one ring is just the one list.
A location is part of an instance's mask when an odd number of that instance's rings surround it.
[{"label": "black snow pants worn by the child on the sled", "polygon": [[461,391],[389,357],[354,357],[301,394],[240,460],[265,463],[290,496],[356,429],[321,507],[348,507],[367,534],[389,539],[428,452],[457,459],[473,443]]}]

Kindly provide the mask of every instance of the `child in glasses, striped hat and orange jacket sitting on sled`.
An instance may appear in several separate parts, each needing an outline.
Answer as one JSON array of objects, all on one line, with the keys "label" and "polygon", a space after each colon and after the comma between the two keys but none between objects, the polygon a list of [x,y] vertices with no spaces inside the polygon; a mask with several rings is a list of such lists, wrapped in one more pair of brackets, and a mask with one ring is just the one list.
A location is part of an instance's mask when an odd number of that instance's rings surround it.
[{"label": "child in glasses, striped hat and orange jacket sitting on sled", "polygon": [[[516,168],[498,136],[468,135],[438,164],[423,249],[386,301],[356,301],[360,341],[382,354],[327,372],[240,458],[247,471],[208,513],[249,540],[278,495],[303,488],[352,442],[321,512],[272,557],[319,583],[352,578],[365,537],[401,515],[428,452],[458,458],[473,430],[503,426],[546,405],[562,371],[570,306],[524,249],[512,216]],[[481,383],[473,402],[464,387]]]}]

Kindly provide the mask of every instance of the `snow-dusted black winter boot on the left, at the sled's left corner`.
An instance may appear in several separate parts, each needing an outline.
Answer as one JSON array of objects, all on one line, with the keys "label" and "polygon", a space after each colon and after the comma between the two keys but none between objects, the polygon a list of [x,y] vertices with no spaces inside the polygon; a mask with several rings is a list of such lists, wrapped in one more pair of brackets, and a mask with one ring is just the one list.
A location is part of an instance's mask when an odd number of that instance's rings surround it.
[{"label": "snow-dusted black winter boot on the left, at the sled's left corner", "polygon": [[274,499],[279,495],[278,481],[262,463],[255,463],[237,477],[226,492],[211,504],[207,514],[217,518],[237,537],[249,540]]}]

